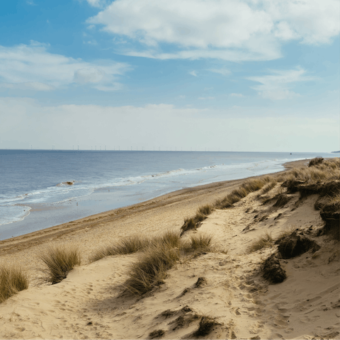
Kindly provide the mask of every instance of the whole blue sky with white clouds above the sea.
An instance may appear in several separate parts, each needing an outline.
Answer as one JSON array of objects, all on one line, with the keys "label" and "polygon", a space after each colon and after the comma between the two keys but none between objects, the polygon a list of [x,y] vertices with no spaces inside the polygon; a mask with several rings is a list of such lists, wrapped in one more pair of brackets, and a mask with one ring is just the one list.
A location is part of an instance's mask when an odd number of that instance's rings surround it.
[{"label": "whole blue sky with white clouds above the sea", "polygon": [[0,149],[340,149],[340,0],[0,3]]}]

